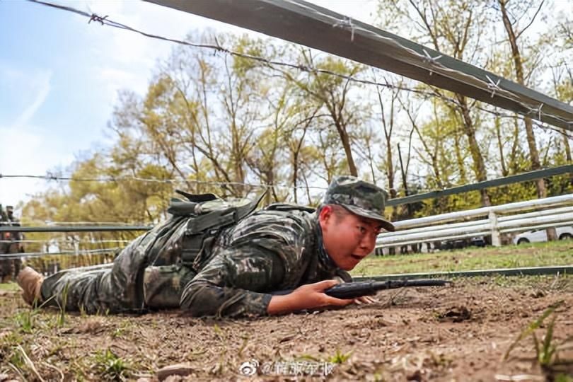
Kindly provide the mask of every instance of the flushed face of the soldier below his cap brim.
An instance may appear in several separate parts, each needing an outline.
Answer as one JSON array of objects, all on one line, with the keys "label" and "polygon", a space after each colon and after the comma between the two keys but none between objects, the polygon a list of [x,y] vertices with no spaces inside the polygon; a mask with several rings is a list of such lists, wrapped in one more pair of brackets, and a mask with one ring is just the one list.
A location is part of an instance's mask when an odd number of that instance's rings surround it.
[{"label": "flushed face of the soldier below his cap brim", "polygon": [[342,270],[352,270],[376,245],[380,223],[347,212],[335,214],[325,206],[319,215],[320,228],[328,255]]}]

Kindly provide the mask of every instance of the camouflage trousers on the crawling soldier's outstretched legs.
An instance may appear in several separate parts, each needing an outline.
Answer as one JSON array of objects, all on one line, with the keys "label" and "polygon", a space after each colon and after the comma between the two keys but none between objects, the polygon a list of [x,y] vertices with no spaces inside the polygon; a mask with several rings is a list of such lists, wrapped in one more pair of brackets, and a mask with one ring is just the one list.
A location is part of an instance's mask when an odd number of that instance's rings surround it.
[{"label": "camouflage trousers on the crawling soldier's outstretched legs", "polygon": [[[139,236],[122,250],[111,267],[76,268],[47,277],[41,289],[44,305],[87,314],[178,308],[185,285],[195,277],[190,267],[170,262],[176,257],[173,248],[178,248],[173,241],[179,240],[173,231],[185,228],[179,223],[183,222],[168,221]],[[152,250],[161,237],[164,240],[159,250]]]}]

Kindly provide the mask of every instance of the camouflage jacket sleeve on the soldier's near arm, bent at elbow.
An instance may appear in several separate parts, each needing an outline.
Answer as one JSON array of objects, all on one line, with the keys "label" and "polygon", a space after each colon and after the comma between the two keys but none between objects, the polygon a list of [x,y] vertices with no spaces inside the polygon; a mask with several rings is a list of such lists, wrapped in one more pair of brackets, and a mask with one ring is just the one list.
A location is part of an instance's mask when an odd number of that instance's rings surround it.
[{"label": "camouflage jacket sleeve on the soldier's near arm, bent at elbow", "polygon": [[292,264],[300,260],[305,238],[312,233],[295,218],[263,212],[241,221],[187,284],[180,307],[192,316],[266,315],[268,292],[282,289],[285,279],[303,272]]}]

